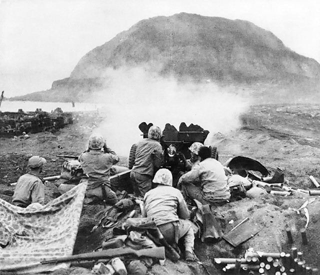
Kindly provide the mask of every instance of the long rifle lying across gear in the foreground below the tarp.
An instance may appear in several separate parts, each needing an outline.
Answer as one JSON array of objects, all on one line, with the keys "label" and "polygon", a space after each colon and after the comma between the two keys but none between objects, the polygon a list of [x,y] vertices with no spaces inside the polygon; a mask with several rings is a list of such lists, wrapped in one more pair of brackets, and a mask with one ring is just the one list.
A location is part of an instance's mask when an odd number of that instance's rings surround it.
[{"label": "long rifle lying across gear in the foreground below the tarp", "polygon": [[151,257],[158,259],[165,259],[164,247],[154,247],[145,248],[140,250],[134,250],[132,248],[110,248],[101,251],[94,251],[89,253],[82,253],[71,256],[64,256],[59,258],[54,258],[50,260],[43,260],[41,264],[47,263],[58,263],[58,262],[68,262],[68,261],[79,261],[79,260],[90,260],[90,259],[103,259],[103,258],[114,258],[124,255],[134,255],[136,257]]}]

